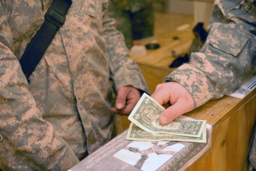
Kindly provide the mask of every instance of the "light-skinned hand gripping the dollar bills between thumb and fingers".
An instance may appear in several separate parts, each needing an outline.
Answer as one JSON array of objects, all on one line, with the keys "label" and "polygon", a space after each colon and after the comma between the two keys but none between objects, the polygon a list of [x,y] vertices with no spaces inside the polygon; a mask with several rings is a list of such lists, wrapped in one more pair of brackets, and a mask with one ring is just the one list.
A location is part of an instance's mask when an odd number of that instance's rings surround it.
[{"label": "light-skinned hand gripping the dollar bills between thumb and fingers", "polygon": [[159,117],[161,124],[169,123],[176,117],[194,109],[192,96],[176,82],[158,84],[151,97],[166,108]]}]

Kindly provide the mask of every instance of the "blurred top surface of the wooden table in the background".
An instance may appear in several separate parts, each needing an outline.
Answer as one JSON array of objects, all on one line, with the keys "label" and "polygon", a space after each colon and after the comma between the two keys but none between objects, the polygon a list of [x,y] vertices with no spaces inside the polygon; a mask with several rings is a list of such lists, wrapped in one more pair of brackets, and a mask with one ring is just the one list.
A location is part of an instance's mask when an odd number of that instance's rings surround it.
[{"label": "blurred top surface of the wooden table in the background", "polygon": [[[169,65],[176,59],[171,52],[178,55],[184,55],[194,39],[192,33],[193,24],[184,24],[175,30],[164,33],[160,36],[154,37],[145,42],[144,45],[149,43],[157,43],[160,48],[155,50],[146,50],[146,55],[130,55],[138,64],[154,66],[164,69],[169,69]],[[130,53],[132,54],[132,53]]]}]

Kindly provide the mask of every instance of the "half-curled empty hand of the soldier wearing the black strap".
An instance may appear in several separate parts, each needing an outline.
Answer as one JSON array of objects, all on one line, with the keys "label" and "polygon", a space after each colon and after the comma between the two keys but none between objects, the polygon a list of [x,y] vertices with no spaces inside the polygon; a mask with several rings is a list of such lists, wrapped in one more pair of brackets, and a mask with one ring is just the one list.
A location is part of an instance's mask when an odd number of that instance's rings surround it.
[{"label": "half-curled empty hand of the soldier wearing the black strap", "polygon": [[129,115],[140,100],[140,91],[132,86],[123,86],[117,90],[116,107],[111,111],[120,115]]}]

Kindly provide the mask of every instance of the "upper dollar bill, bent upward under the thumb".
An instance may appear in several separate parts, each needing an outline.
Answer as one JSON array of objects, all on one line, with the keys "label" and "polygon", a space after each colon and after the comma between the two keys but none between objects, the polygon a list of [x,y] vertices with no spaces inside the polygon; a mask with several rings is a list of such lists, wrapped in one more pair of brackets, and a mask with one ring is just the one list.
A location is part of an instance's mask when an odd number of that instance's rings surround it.
[{"label": "upper dollar bill, bent upward under the thumb", "polygon": [[149,133],[201,137],[206,120],[182,120],[176,118],[172,122],[162,125],[159,122],[159,116],[164,110],[162,105],[144,93],[128,119]]}]

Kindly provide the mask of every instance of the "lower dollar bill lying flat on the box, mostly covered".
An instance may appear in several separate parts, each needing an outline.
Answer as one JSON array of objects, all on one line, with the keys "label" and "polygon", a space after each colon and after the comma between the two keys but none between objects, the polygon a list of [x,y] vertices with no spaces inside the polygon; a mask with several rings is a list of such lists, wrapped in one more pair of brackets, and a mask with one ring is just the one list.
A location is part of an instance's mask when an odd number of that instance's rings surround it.
[{"label": "lower dollar bill lying flat on the box, mostly covered", "polygon": [[128,129],[128,133],[126,135],[126,139],[136,141],[185,141],[206,143],[206,126],[204,127],[204,130],[200,137],[187,137],[164,133],[149,133],[147,131],[144,131],[134,123],[131,123]]}]

